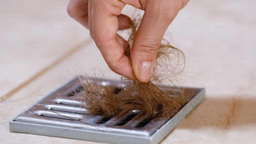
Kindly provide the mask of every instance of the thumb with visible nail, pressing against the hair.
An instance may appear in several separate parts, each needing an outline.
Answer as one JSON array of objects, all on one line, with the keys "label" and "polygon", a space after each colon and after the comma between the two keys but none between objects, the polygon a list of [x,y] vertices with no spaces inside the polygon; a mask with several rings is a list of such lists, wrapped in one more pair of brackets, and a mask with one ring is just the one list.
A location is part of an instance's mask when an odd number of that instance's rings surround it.
[{"label": "thumb with visible nail, pressing against the hair", "polygon": [[174,16],[168,17],[161,10],[145,10],[131,49],[132,70],[140,82],[148,82],[152,77],[154,63],[163,35],[173,21]]}]

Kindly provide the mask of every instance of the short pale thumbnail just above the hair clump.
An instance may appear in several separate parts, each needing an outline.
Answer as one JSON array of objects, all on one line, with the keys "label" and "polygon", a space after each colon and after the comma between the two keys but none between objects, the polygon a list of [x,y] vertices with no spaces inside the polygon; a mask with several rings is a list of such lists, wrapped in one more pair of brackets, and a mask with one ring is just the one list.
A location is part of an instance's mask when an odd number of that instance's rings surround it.
[{"label": "short pale thumbnail just above the hair clump", "polygon": [[140,80],[146,82],[151,75],[152,63],[150,61],[142,61],[139,66]]}]

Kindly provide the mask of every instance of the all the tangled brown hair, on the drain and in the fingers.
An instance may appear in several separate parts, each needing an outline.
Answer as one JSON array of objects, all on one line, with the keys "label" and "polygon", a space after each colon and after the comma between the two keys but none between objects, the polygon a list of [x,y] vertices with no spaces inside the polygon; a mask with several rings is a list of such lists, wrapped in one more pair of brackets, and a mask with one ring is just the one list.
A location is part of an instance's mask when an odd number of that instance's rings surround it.
[{"label": "all the tangled brown hair, on the drain and in the fingers", "polygon": [[[133,25],[128,29],[130,36],[125,46],[125,55],[131,60],[131,49],[135,39],[141,19],[133,20]],[[131,63],[131,61],[130,61]],[[121,81],[129,85],[123,89],[129,94],[128,99],[140,103],[139,108],[144,115],[152,118],[157,113],[162,113],[167,117],[175,115],[185,104],[184,94],[174,92],[163,86],[163,82],[171,82],[173,78],[183,71],[185,66],[184,54],[177,48],[170,45],[166,40],[162,40],[157,57],[154,63],[152,78],[149,82],[141,83],[137,79],[134,81],[122,77]],[[133,77],[135,77],[133,72]],[[120,95],[116,95],[110,86],[98,85],[102,79],[91,82],[89,78],[81,78],[83,90],[76,96],[83,101],[83,107],[90,115],[103,115],[112,117],[120,112],[121,105],[125,103]],[[174,84],[175,85],[175,84]]]}]

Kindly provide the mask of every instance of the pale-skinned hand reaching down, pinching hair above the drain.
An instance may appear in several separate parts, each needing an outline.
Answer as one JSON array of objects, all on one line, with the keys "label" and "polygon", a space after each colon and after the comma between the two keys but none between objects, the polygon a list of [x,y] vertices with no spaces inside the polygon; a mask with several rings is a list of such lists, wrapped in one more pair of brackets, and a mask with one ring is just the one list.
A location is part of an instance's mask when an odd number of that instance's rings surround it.
[{"label": "pale-skinned hand reaching down, pinching hair above the drain", "polygon": [[[67,12],[84,27],[113,72],[131,80],[148,82],[163,35],[189,0],[70,0]],[[131,24],[121,14],[125,5],[144,10],[130,59],[124,55],[126,41],[117,34]],[[132,74],[134,72],[134,76]]]}]

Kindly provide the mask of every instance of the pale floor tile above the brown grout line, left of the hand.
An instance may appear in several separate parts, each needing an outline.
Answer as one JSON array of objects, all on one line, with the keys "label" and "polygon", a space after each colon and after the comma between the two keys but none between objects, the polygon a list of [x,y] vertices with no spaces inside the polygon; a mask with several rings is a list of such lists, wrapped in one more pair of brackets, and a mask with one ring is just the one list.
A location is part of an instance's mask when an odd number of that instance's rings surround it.
[{"label": "pale floor tile above the brown grout line, left of the hand", "polygon": [[66,13],[68,0],[0,1],[0,96],[90,38]]}]

